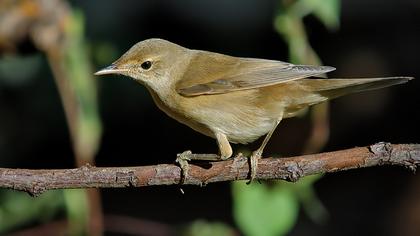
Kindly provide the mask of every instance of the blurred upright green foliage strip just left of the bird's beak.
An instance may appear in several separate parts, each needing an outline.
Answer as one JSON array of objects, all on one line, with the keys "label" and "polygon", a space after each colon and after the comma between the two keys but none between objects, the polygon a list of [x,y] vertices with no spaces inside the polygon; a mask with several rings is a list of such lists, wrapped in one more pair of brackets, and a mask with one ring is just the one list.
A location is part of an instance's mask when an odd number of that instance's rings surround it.
[{"label": "blurred upright green foliage strip just left of the bird's beak", "polygon": [[[76,155],[92,162],[99,148],[102,125],[99,117],[96,80],[93,78],[90,58],[84,40],[84,18],[80,11],[73,11],[67,27],[64,48],[65,74],[77,101],[77,122],[73,137]],[[66,99],[66,98],[63,98]]]}]

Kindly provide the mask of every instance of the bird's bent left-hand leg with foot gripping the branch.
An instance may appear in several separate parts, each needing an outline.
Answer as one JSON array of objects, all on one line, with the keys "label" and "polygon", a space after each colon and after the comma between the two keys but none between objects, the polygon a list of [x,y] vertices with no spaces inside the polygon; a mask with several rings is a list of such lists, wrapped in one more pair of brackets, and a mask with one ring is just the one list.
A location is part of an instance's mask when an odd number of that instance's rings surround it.
[{"label": "bird's bent left-hand leg with foot gripping the branch", "polygon": [[215,133],[217,144],[219,145],[220,155],[217,154],[195,154],[191,151],[185,151],[177,155],[176,162],[179,163],[181,168],[181,183],[184,183],[185,178],[188,176],[189,164],[191,160],[199,161],[222,161],[232,156],[232,147],[226,135],[220,132]]}]

